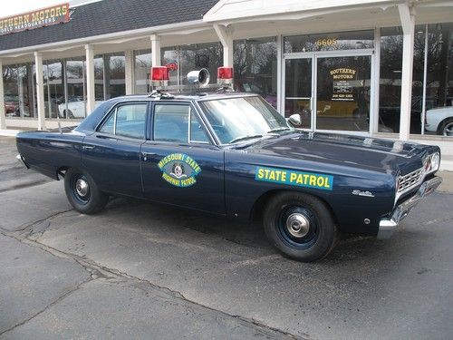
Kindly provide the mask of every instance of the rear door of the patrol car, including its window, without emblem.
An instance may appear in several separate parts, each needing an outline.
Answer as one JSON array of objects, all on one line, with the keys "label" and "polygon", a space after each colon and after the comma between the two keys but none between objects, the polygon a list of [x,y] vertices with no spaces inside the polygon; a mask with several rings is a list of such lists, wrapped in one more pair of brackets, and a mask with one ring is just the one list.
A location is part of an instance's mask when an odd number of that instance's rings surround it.
[{"label": "rear door of the patrol car, including its window, without emblem", "polygon": [[101,190],[141,196],[140,146],[145,142],[148,102],[120,103],[82,146],[82,167]]}]

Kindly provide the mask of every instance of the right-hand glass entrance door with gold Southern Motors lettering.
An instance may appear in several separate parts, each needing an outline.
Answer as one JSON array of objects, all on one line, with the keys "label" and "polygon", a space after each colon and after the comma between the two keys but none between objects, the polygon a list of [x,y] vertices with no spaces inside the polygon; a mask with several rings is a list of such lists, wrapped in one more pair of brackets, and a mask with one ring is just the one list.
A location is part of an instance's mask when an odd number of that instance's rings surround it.
[{"label": "right-hand glass entrance door with gold Southern Motors lettering", "polygon": [[371,55],[316,57],[316,130],[370,131]]}]

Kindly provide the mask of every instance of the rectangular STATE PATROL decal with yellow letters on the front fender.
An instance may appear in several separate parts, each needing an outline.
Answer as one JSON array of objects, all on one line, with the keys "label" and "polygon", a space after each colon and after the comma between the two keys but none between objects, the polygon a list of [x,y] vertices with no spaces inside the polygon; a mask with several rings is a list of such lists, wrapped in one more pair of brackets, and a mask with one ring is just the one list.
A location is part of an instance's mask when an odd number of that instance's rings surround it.
[{"label": "rectangular STATE PATROL decal with yellow letters on the front fender", "polygon": [[256,167],[255,180],[323,190],[333,188],[331,175],[276,168]]}]

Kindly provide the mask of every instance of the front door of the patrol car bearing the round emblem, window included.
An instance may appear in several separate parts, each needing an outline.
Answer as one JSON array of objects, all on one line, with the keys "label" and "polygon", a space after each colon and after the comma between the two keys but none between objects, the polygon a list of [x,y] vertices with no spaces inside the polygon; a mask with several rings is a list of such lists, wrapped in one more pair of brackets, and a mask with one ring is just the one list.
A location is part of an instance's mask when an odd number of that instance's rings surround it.
[{"label": "front door of the patrol car bearing the round emblem, window included", "polygon": [[141,146],[145,197],[225,214],[224,151],[190,103],[154,103],[150,126],[151,140]]}]

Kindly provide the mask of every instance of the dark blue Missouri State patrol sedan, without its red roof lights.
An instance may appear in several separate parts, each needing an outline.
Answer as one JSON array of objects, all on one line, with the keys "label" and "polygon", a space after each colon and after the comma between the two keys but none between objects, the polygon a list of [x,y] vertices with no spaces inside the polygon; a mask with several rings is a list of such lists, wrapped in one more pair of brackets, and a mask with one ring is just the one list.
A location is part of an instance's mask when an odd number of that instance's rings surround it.
[{"label": "dark blue Missouri State patrol sedan, without its red roof lights", "polygon": [[286,256],[325,257],[338,231],[389,238],[441,179],[436,146],[296,130],[250,93],[126,96],[75,129],[17,135],[18,156],[74,209],[109,196],[263,220]]}]

